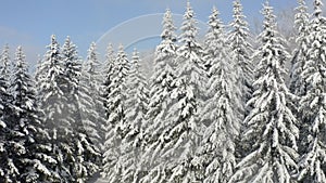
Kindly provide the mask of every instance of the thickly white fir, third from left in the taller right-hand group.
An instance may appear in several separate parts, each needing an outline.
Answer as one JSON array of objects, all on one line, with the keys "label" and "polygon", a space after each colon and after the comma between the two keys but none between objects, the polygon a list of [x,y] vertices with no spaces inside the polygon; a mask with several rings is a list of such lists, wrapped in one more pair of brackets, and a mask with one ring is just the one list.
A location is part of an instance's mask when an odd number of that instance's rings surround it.
[{"label": "thickly white fir, third from left in the taller right-hand group", "polygon": [[[237,119],[235,94],[239,92],[234,75],[234,65],[224,40],[224,27],[214,8],[209,21],[209,47],[204,57],[210,63],[208,95],[202,112],[202,122],[208,123],[197,161],[200,164],[198,179],[205,183],[226,183],[233,175],[235,158],[235,138],[239,134],[240,120]],[[238,92],[237,92],[238,91]],[[208,122],[209,121],[209,122]]]}]

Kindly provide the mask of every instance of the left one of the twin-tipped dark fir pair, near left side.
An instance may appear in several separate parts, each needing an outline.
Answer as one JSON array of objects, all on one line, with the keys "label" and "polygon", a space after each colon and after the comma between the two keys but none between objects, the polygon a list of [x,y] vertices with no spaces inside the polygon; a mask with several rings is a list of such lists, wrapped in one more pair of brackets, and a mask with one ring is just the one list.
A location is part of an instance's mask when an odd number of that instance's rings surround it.
[{"label": "left one of the twin-tipped dark fir pair, near left side", "polygon": [[70,116],[68,99],[66,95],[68,80],[64,76],[64,64],[55,36],[51,37],[40,73],[40,109],[42,120],[48,129],[51,144],[51,156],[55,164],[51,169],[55,172],[54,180],[61,182],[73,181],[71,162],[74,162],[74,147],[72,146],[73,119]]}]

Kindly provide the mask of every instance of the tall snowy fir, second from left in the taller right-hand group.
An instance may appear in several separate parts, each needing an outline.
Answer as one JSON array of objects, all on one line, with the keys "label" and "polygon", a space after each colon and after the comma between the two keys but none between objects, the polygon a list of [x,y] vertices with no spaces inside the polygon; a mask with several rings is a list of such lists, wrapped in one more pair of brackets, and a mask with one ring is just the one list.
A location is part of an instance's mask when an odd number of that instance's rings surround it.
[{"label": "tall snowy fir, second from left in the taller right-hand group", "polygon": [[203,49],[197,42],[197,21],[190,3],[184,15],[180,41],[177,50],[176,79],[172,84],[173,104],[168,107],[166,118],[161,121],[163,131],[158,141],[151,144],[153,165],[142,182],[195,182],[195,149],[198,147],[201,129],[199,110],[202,105],[205,71],[203,68]]}]

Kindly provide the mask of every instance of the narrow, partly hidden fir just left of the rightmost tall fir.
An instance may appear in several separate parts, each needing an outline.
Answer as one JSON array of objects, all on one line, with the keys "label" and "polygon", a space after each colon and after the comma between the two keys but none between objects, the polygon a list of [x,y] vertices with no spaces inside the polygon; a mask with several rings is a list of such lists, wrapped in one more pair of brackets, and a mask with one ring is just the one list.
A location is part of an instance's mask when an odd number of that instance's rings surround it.
[{"label": "narrow, partly hidden fir just left of the rightmost tall fir", "polygon": [[293,94],[301,96],[305,94],[305,83],[302,79],[302,70],[308,58],[309,49],[309,13],[304,0],[298,0],[299,6],[296,9],[296,27],[298,36],[296,42],[298,44],[292,56],[292,68],[290,77],[290,90]]}]

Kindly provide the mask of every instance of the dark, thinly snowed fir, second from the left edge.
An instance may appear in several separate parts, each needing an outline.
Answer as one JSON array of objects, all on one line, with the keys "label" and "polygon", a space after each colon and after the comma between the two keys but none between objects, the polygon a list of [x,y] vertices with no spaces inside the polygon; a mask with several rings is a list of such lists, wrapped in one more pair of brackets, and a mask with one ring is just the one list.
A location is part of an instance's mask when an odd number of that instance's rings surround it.
[{"label": "dark, thinly snowed fir, second from the left edge", "polygon": [[43,155],[38,148],[42,135],[47,133],[38,118],[34,81],[28,74],[28,66],[22,47],[17,48],[15,64],[10,84],[12,92],[12,120],[8,149],[14,165],[17,165],[20,178],[16,182],[41,182],[51,177]]}]

